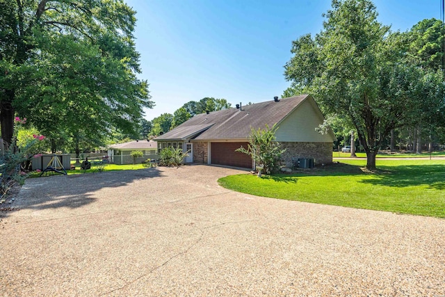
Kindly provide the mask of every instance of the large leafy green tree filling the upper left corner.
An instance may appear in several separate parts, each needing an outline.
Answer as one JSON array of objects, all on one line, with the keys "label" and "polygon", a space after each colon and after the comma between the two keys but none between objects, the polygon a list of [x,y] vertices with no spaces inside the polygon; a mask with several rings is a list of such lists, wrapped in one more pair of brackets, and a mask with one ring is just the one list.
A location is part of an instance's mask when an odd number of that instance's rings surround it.
[{"label": "large leafy green tree filling the upper left corner", "polygon": [[79,135],[103,142],[113,129],[138,134],[135,123],[152,102],[147,81],[136,78],[136,18],[129,6],[119,0],[3,0],[0,14],[6,141],[15,113],[54,144]]}]

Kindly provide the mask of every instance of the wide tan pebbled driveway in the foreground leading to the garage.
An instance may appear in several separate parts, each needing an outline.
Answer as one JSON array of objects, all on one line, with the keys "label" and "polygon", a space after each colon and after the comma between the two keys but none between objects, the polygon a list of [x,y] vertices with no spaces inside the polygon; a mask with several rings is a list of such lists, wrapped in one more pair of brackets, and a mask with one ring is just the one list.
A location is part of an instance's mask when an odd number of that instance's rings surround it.
[{"label": "wide tan pebbled driveway in the foreground leading to the garage", "polygon": [[444,296],[445,220],[261,198],[184,166],[28,179],[2,296]]}]

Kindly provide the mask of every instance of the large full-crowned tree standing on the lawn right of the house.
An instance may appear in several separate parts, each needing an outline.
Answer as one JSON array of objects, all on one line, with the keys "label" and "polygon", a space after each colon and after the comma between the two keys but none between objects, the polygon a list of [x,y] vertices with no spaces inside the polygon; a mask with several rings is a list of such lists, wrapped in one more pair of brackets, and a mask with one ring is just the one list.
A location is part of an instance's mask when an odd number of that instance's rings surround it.
[{"label": "large full-crowned tree standing on the lawn right of the house", "polygon": [[348,118],[375,168],[391,129],[443,98],[441,74],[403,63],[406,43],[377,21],[369,0],[333,0],[323,30],[293,42],[285,77],[314,93],[323,111]]}]

